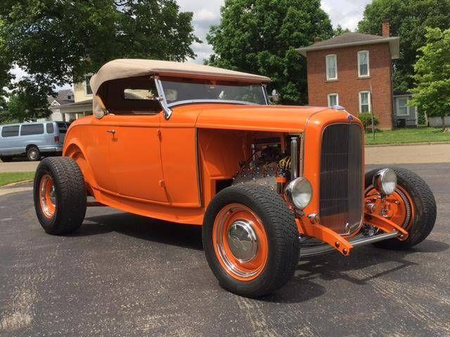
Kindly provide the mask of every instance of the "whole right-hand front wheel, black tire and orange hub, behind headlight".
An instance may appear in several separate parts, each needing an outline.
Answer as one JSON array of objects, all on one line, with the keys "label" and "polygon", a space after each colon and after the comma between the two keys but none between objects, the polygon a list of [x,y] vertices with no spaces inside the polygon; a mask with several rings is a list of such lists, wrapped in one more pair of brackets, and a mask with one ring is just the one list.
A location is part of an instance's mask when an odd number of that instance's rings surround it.
[{"label": "whole right-hand front wheel, black tire and orange hub, behind headlight", "polygon": [[397,174],[397,187],[383,202],[372,185],[375,169],[366,173],[366,203],[375,206],[375,212],[389,218],[408,231],[405,241],[389,239],[375,246],[385,249],[409,249],[428,237],[436,221],[436,201],[427,183],[416,173],[406,169],[392,168]]}]

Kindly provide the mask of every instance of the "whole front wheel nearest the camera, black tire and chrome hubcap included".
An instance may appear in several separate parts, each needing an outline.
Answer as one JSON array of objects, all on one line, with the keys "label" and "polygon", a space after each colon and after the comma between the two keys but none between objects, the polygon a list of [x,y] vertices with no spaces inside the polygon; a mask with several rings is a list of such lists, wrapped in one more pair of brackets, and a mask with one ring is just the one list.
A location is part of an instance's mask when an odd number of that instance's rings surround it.
[{"label": "whole front wheel nearest the camera, black tire and chrome hubcap included", "polygon": [[203,246],[220,286],[252,298],[288,282],[300,253],[293,212],[276,192],[255,184],[227,187],[212,199]]}]

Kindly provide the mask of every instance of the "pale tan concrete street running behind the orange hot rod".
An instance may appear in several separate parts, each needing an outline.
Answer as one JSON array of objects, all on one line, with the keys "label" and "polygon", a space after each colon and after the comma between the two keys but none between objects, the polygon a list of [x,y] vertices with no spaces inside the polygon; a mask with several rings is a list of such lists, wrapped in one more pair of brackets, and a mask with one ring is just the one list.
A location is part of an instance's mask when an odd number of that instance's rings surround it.
[{"label": "pale tan concrete street running behind the orange hot rod", "polygon": [[[366,147],[366,164],[450,163],[450,144],[382,145]],[[2,163],[2,172],[36,171],[39,161]]]}]

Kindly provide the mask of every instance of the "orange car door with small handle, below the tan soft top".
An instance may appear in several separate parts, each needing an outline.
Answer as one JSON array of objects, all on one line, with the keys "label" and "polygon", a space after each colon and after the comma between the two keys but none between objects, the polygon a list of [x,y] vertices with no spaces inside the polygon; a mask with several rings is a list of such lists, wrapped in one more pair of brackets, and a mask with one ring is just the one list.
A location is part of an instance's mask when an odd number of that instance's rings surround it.
[{"label": "orange car door with small handle, below the tan soft top", "polygon": [[166,203],[160,147],[160,113],[108,114],[110,172],[126,197]]}]

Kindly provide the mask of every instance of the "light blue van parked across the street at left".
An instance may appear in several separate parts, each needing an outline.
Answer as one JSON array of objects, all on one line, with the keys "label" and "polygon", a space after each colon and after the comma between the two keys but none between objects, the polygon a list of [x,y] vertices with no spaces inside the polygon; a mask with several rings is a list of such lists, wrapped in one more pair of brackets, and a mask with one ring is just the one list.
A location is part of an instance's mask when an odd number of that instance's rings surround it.
[{"label": "light blue van parked across the street at left", "polygon": [[37,161],[42,155],[62,154],[68,126],[65,121],[0,126],[1,161],[23,156],[29,161]]}]

